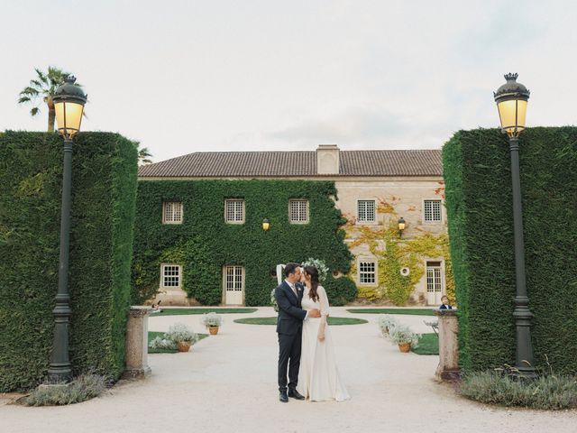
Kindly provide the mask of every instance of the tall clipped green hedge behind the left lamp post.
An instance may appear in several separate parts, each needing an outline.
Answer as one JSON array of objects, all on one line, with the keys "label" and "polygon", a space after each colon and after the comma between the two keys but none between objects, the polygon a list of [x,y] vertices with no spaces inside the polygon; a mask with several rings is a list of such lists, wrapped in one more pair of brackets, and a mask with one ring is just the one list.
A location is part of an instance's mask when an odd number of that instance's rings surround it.
[{"label": "tall clipped green hedge behind the left lamp post", "polygon": [[[58,288],[63,143],[0,134],[0,392],[30,389],[50,364]],[[124,370],[137,152],[118,134],[74,140],[70,235],[73,373]]]}]

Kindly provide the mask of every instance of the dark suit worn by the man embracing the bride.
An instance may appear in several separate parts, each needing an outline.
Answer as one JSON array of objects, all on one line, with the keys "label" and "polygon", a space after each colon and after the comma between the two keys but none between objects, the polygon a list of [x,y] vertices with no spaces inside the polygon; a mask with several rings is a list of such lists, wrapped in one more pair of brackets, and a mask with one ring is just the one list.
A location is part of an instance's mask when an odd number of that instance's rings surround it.
[{"label": "dark suit worn by the man embracing the bride", "polygon": [[300,345],[302,340],[303,320],[307,311],[301,309],[303,288],[297,283],[298,294],[290,288],[287,281],[282,281],[274,290],[274,297],[279,304],[277,333],[279,334],[279,392],[287,392],[287,367],[289,366],[289,390],[295,390],[298,382],[300,365]]}]

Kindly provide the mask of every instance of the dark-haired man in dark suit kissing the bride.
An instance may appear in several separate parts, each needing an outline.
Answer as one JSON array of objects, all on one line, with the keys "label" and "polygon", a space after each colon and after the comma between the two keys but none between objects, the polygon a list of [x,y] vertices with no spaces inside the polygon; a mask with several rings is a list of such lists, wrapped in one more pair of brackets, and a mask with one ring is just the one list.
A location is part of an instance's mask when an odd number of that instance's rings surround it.
[{"label": "dark-haired man in dark suit kissing the bride", "polygon": [[[277,333],[279,334],[279,401],[289,402],[289,397],[305,400],[297,392],[298,367],[300,366],[300,345],[303,332],[303,320],[320,318],[318,309],[305,311],[300,302],[303,299],[303,287],[300,284],[300,264],[288,263],[285,266],[285,281],[274,290],[279,305]],[[289,367],[290,364],[290,367]],[[287,367],[289,367],[289,392],[287,392]]]}]

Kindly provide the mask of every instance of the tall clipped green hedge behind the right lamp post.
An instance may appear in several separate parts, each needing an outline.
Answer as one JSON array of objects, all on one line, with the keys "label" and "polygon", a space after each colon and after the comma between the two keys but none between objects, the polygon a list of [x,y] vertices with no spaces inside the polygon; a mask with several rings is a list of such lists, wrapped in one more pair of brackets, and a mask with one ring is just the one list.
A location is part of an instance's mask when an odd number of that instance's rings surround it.
[{"label": "tall clipped green hedge behind the right lamp post", "polygon": [[[520,137],[529,309],[536,365],[577,373],[577,128]],[[508,138],[461,131],[444,145],[444,180],[460,363],[478,371],[515,362],[513,210]]]}]

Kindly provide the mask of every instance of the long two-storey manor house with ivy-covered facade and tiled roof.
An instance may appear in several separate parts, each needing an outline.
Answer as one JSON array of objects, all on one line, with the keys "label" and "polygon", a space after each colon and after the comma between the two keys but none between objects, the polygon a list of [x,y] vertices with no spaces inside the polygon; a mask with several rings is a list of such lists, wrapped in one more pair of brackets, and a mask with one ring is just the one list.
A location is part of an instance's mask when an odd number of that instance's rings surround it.
[{"label": "long two-storey manor house with ivy-covered facade and tiled roof", "polygon": [[276,265],[307,258],[330,268],[334,305],[454,299],[441,172],[439,151],[336,146],[142,167],[133,301],[268,305]]}]

